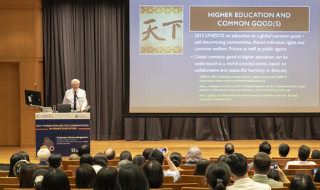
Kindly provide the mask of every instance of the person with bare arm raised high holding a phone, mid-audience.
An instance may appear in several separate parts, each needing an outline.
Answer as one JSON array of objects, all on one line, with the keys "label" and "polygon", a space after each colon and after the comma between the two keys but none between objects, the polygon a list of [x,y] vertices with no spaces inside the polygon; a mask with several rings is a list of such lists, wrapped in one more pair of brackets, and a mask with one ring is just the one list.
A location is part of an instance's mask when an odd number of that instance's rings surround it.
[{"label": "person with bare arm raised high holding a phone, mid-audience", "polygon": [[165,149],[166,151],[162,153],[159,150],[154,150],[153,152],[151,152],[151,154],[149,155],[149,161],[155,160],[163,165],[163,159],[167,159],[167,164],[170,167],[170,171],[163,171],[163,174],[165,176],[173,176],[173,181],[177,181],[180,178],[180,172],[177,170],[177,167],[175,167],[175,164],[173,164],[169,159],[169,149],[167,149],[167,147]]}]

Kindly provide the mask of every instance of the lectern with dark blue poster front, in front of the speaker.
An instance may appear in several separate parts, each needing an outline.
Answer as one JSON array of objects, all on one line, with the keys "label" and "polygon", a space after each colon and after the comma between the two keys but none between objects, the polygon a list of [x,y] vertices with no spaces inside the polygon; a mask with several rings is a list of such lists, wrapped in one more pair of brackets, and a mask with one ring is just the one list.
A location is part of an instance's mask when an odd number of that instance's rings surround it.
[{"label": "lectern with dark blue poster front, in front of the speaker", "polygon": [[68,157],[83,144],[90,146],[90,113],[36,113],[36,152],[46,145]]}]

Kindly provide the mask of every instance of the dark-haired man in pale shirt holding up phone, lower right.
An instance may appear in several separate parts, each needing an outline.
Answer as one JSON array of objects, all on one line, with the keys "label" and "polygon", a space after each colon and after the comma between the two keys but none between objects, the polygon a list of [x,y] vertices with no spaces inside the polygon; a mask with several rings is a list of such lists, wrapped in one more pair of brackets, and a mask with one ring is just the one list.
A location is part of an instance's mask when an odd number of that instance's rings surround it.
[{"label": "dark-haired man in pale shirt holding up phone, lower right", "polygon": [[[284,184],[279,181],[275,181],[274,179],[270,179],[267,176],[268,171],[270,170],[271,159],[269,155],[265,152],[259,152],[253,157],[253,170],[254,176],[252,176],[252,180],[262,184],[268,184],[270,187],[282,187]],[[279,172],[279,176],[281,176],[282,181],[290,182],[284,172],[278,168],[276,171]]]}]

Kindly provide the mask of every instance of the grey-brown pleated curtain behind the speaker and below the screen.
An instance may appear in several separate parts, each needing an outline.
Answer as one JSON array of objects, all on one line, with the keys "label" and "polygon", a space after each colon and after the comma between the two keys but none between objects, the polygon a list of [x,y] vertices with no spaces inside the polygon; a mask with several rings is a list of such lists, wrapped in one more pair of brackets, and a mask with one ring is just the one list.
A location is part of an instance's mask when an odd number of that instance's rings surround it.
[{"label": "grey-brown pleated curtain behind the speaker and below the screen", "polygon": [[319,118],[123,118],[124,14],[124,0],[43,0],[45,105],[78,78],[91,139],[320,139]]}]

